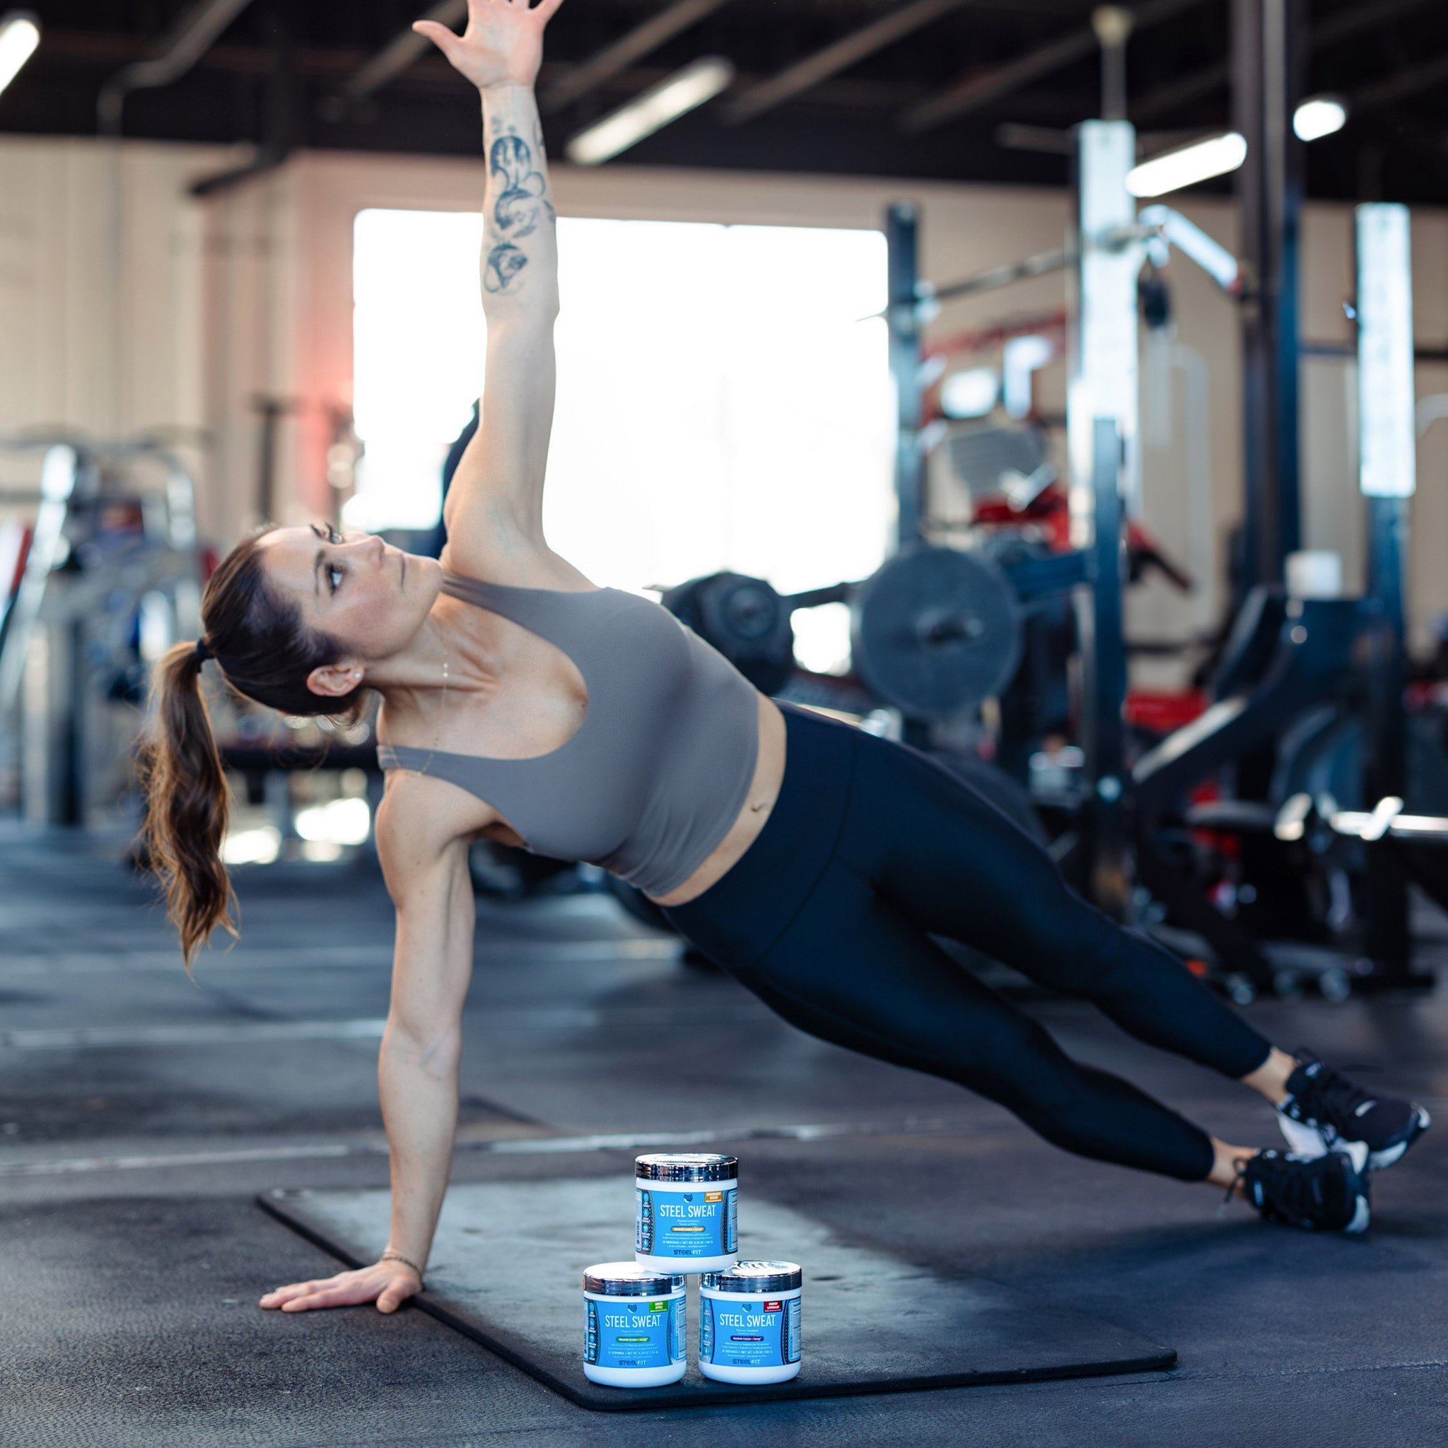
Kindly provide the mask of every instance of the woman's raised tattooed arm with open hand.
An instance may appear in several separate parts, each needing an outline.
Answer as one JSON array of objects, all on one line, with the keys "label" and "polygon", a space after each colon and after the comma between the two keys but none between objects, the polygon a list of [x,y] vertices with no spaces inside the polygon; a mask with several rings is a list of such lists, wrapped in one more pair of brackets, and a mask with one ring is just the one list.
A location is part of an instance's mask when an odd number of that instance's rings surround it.
[{"label": "woman's raised tattooed arm with open hand", "polygon": [[[488,372],[478,433],[447,495],[449,562],[498,582],[542,555],[543,473],[553,426],[557,236],[533,80],[562,0],[469,0],[468,29],[418,20],[482,96],[482,310]],[[521,546],[521,547],[520,547]],[[526,565],[524,565],[526,566]]]}]

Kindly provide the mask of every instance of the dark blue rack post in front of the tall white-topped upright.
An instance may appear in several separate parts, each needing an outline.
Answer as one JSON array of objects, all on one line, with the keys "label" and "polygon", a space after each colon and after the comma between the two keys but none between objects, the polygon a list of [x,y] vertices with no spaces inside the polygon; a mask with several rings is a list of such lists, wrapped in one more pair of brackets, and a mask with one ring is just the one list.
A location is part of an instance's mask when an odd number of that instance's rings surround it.
[{"label": "dark blue rack post in front of the tall white-topped upright", "polygon": [[1079,608],[1082,659],[1082,746],[1087,801],[1090,893],[1109,915],[1125,919],[1131,908],[1127,857],[1127,647],[1125,536],[1121,497],[1121,436],[1111,417],[1098,417],[1092,432],[1095,492],[1092,582]]}]

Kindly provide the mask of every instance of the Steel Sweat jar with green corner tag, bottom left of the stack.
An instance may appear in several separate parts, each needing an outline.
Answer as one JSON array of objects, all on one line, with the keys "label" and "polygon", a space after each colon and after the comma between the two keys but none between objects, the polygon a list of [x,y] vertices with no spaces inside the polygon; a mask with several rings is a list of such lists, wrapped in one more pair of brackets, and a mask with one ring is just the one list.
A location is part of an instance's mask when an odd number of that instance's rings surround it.
[{"label": "Steel Sweat jar with green corner tag, bottom left of the stack", "polygon": [[663,1387],[688,1370],[683,1279],[637,1263],[584,1273],[584,1377],[607,1387]]}]

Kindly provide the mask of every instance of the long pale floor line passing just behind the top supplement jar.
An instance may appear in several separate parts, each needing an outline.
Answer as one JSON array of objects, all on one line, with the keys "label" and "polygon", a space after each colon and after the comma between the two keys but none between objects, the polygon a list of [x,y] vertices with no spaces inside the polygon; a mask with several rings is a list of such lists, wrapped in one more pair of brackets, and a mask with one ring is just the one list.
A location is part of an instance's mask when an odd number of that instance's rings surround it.
[{"label": "long pale floor line passing just behind the top supplement jar", "polygon": [[[941,1119],[904,1122],[827,1122],[799,1127],[743,1127],[733,1131],[643,1131],[586,1137],[515,1137],[502,1141],[459,1141],[459,1153],[492,1156],[566,1156],[588,1151],[633,1151],[641,1147],[702,1147],[725,1141],[827,1141],[837,1137],[930,1135],[959,1129]],[[317,1141],[295,1145],[242,1147],[233,1151],[177,1151],[127,1157],[65,1157],[0,1161],[0,1177],[75,1176],[88,1171],[153,1171],[164,1167],[220,1167],[253,1161],[334,1161],[342,1157],[385,1157],[381,1142]]]}]

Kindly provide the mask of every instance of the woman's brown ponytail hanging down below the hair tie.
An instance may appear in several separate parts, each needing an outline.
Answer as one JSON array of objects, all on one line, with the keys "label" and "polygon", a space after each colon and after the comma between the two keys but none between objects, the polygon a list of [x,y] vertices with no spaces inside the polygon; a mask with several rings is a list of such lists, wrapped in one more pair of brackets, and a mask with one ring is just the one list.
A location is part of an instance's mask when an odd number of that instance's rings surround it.
[{"label": "woman's brown ponytail hanging down below the hair tie", "polygon": [[140,754],[146,847],[167,889],[187,970],[217,925],[236,934],[232,882],[222,863],[230,789],[200,683],[194,644],[168,650],[156,665],[155,720]]}]

